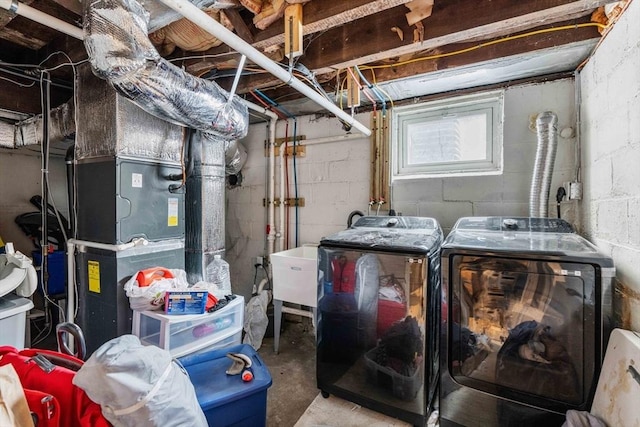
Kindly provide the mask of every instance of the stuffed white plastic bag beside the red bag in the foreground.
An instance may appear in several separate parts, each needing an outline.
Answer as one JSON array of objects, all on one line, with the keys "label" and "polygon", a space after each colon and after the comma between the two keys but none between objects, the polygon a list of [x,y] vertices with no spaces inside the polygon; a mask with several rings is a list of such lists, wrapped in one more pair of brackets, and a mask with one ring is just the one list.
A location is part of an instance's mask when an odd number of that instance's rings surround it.
[{"label": "stuffed white plastic bag beside the red bag in the foreground", "polygon": [[206,427],[195,388],[167,350],[135,335],[114,338],[80,368],[73,384],[114,426]]}]

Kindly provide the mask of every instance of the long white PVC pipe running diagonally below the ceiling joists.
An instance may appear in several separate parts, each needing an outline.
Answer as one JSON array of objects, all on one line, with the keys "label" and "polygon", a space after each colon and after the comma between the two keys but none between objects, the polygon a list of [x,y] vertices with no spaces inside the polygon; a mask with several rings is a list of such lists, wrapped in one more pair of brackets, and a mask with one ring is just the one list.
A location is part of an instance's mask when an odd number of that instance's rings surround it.
[{"label": "long white PVC pipe running diagonally below the ceiling joists", "polygon": [[209,32],[212,36],[215,36],[217,39],[221,40],[230,48],[243,55],[246,55],[247,58],[252,60],[254,63],[264,68],[266,71],[268,71],[278,79],[287,83],[289,86],[305,95],[307,98],[311,99],[321,107],[335,114],[336,117],[353,126],[359,132],[362,132],[366,136],[371,135],[371,130],[369,128],[355,120],[349,114],[342,111],[340,108],[338,108],[338,106],[336,106],[326,98],[322,97],[322,95],[320,95],[314,89],[310,88],[300,80],[293,77],[293,75],[291,75],[287,70],[281,68],[278,64],[267,58],[253,46],[242,40],[240,37],[236,36],[231,31],[227,30],[222,24],[211,18],[202,10],[198,9],[197,6],[193,5],[188,0],[160,1],[179,14],[183,15],[188,20],[198,25],[205,31]]}]

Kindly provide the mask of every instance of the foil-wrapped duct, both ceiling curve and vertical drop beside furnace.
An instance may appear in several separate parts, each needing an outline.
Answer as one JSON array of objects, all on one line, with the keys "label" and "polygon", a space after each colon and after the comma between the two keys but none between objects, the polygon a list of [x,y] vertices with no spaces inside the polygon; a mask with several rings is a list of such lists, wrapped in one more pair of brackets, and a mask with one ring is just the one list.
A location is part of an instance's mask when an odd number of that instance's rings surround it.
[{"label": "foil-wrapped duct, both ceiling curve and vertical drop beside furnace", "polygon": [[206,266],[224,253],[225,160],[233,169],[244,163],[235,140],[247,134],[247,106],[163,59],[147,36],[149,13],[135,0],[88,0],[84,15],[93,73],[147,113],[197,131],[186,177],[185,268],[190,283],[207,279]]}]

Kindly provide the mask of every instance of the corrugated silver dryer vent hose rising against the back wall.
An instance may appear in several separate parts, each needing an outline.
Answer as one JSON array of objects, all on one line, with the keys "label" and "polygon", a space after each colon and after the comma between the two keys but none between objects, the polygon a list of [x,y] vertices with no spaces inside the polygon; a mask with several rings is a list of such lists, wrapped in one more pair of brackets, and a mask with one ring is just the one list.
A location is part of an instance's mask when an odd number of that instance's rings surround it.
[{"label": "corrugated silver dryer vent hose rising against the back wall", "polygon": [[546,218],[549,216],[549,191],[553,164],[558,147],[558,116],[551,111],[540,113],[536,119],[538,149],[533,166],[531,192],[529,194],[529,216]]}]

